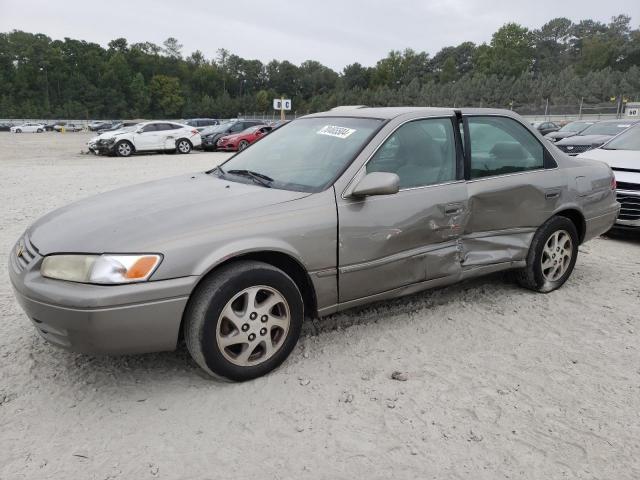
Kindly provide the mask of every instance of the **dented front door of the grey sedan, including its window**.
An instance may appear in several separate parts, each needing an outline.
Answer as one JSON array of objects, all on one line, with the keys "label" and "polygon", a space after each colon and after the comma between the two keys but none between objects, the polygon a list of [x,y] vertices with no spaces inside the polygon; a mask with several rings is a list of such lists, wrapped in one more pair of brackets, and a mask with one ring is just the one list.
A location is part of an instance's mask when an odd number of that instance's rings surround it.
[{"label": "dented front door of the grey sedan, including its window", "polygon": [[396,173],[398,193],[338,197],[341,303],[459,272],[467,192],[454,125],[407,122],[371,157],[366,173]]}]

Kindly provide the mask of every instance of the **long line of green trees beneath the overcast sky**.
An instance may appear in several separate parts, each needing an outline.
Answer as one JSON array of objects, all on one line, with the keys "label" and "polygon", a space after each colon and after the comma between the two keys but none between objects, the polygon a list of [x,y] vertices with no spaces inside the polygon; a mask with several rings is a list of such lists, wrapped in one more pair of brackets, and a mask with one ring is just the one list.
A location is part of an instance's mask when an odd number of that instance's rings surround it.
[{"label": "long line of green trees beneath the overcast sky", "polygon": [[[189,118],[269,112],[293,99],[298,115],[336,105],[532,108],[640,99],[640,29],[626,15],[609,23],[554,18],[517,23],[489,43],[463,42],[431,56],[391,51],[374,66],[341,72],[307,60],[248,60],[225,49],[207,59],[182,45],[107,48],[14,30],[0,33],[0,118]],[[525,112],[526,113],[526,112]]]}]

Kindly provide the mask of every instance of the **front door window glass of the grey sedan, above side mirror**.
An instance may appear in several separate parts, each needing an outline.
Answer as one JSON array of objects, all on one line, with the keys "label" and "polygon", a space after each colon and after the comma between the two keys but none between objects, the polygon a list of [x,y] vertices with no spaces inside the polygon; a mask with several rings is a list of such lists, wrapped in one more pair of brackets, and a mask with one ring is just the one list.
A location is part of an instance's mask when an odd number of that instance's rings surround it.
[{"label": "front door window glass of the grey sedan, above side mirror", "polygon": [[400,188],[455,180],[456,148],[451,120],[434,118],[402,125],[367,163],[369,172],[396,173]]}]

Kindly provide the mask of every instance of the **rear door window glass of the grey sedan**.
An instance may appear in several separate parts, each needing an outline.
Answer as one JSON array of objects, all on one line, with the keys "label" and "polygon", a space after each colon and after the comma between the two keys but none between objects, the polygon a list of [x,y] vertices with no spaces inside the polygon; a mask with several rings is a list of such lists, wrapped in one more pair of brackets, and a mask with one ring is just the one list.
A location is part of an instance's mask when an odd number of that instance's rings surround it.
[{"label": "rear door window glass of the grey sedan", "polygon": [[544,167],[544,148],[517,121],[505,117],[468,117],[471,178]]}]

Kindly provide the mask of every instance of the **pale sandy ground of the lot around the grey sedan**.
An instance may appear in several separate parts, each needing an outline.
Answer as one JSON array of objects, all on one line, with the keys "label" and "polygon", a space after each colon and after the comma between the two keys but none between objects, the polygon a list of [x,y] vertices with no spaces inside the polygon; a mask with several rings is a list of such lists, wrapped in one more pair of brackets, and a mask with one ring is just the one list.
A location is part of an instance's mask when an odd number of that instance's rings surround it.
[{"label": "pale sandy ground of the lot around the grey sedan", "polygon": [[277,371],[217,383],[184,347],[61,351],[14,300],[39,215],[224,158],[86,138],[0,134],[0,479],[640,478],[640,236],[582,246],[548,295],[494,275],[314,321]]}]

